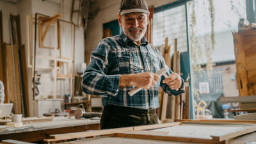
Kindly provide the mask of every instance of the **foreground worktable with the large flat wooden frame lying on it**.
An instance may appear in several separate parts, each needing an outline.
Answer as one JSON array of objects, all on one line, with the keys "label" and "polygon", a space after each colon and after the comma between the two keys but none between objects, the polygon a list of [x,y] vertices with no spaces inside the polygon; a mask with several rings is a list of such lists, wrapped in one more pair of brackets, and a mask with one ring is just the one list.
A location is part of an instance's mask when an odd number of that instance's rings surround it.
[{"label": "foreground worktable with the large flat wooden frame lying on it", "polygon": [[54,134],[51,135],[51,139],[44,141],[51,143],[61,140],[74,140],[76,138],[80,140],[67,141],[60,144],[242,144],[256,141],[255,120],[175,121],[180,122]]}]

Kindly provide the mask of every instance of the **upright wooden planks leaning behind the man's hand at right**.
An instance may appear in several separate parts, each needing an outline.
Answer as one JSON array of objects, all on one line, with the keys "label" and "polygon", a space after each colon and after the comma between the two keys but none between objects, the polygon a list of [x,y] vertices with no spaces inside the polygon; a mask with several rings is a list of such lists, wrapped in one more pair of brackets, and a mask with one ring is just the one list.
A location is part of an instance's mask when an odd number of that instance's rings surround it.
[{"label": "upright wooden planks leaning behind the man's hand at right", "polygon": [[[174,52],[172,54],[171,45],[168,44],[168,38],[164,40],[164,47],[160,49],[166,65],[173,72],[180,74],[180,54],[177,51],[177,38],[174,40]],[[185,84],[186,94],[182,93],[178,96],[164,93],[159,90],[160,102],[160,119],[161,122],[173,122],[175,119],[189,118],[189,88],[188,83]]]}]

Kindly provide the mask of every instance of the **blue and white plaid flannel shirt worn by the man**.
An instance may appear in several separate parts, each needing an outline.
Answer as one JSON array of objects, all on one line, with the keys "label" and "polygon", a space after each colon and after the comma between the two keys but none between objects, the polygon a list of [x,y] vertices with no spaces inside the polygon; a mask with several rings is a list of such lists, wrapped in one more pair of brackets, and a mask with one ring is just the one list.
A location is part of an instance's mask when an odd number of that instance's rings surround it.
[{"label": "blue and white plaid flannel shirt worn by the man", "polygon": [[170,74],[172,70],[164,62],[161,53],[148,44],[145,37],[138,46],[127,36],[121,35],[105,38],[92,52],[92,60],[86,68],[82,81],[83,92],[91,95],[101,95],[103,106],[114,104],[140,109],[155,109],[159,107],[158,90],[161,86],[166,93],[179,95],[184,92],[184,81],[179,90],[171,90],[161,81],[149,88],[130,96],[128,92],[134,88],[129,86],[118,89],[122,74],[136,74],[138,72],[157,72],[166,68]]}]

